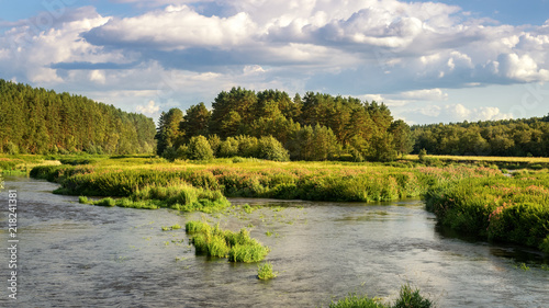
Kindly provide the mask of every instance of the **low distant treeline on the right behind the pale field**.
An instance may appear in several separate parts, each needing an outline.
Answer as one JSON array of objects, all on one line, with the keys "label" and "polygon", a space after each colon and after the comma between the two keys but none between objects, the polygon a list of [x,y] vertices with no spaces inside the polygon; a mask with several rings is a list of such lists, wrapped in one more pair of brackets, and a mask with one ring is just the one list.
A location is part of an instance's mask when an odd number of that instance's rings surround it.
[{"label": "low distant treeline on the right behind the pale field", "polygon": [[414,152],[549,157],[549,115],[527,119],[413,126]]}]

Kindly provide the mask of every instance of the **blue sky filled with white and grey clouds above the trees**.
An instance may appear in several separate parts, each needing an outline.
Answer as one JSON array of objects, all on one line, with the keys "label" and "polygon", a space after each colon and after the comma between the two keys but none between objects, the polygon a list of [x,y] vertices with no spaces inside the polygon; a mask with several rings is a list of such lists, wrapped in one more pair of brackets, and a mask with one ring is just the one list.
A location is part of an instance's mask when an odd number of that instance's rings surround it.
[{"label": "blue sky filled with white and grey clouds above the trees", "polygon": [[549,0],[0,0],[0,78],[155,119],[233,87],[413,124],[549,114]]}]

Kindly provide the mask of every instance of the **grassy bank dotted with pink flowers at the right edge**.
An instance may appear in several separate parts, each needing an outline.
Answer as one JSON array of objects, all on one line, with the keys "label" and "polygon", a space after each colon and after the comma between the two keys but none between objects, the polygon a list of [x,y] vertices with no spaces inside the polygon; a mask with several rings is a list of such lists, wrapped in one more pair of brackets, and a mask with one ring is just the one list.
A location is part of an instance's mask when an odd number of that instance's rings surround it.
[{"label": "grassy bank dotted with pink flowers at the right edge", "polygon": [[435,185],[427,209],[461,233],[526,244],[549,254],[549,173],[463,179]]}]

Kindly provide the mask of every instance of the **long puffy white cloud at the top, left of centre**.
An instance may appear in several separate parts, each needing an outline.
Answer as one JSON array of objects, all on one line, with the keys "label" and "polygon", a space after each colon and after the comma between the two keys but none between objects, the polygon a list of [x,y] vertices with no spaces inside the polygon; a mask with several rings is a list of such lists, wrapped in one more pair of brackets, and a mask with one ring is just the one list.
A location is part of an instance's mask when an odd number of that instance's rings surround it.
[{"label": "long puffy white cloud at the top, left of centre", "polygon": [[246,12],[229,18],[204,16],[187,5],[169,5],[141,16],[113,19],[85,37],[96,44],[172,50],[228,48],[253,38],[255,24]]}]

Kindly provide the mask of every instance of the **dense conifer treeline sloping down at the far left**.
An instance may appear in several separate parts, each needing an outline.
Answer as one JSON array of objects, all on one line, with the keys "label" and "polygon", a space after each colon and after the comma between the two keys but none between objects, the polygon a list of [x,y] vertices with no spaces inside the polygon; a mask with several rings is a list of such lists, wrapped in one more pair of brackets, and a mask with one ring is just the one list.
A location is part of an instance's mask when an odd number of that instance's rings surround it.
[{"label": "dense conifer treeline sloping down at the far left", "polygon": [[145,153],[155,123],[80,95],[0,79],[0,151],[4,153]]}]

